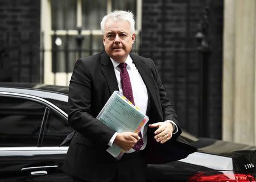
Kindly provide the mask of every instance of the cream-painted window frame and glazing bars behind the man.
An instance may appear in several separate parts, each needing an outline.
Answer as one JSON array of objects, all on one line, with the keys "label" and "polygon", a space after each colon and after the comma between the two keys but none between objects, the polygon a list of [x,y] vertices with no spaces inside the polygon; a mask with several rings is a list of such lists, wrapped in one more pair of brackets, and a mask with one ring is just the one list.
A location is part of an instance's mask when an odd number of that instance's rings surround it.
[{"label": "cream-painted window frame and glazing bars behind the man", "polygon": [[[41,55],[41,64],[43,66],[42,72],[44,78],[42,79],[46,84],[57,84],[57,85],[68,85],[69,80],[71,79],[72,72],[52,72],[52,36],[76,36],[79,35],[78,30],[52,30],[51,27],[51,1],[54,0],[41,0],[41,49],[43,50],[43,55]],[[82,27],[82,1],[77,1],[77,27]],[[106,0],[106,13],[112,11],[112,0]],[[139,33],[142,29],[142,0],[137,0],[137,16],[136,16],[136,30],[135,34],[137,35],[137,40],[134,49],[139,49]],[[101,30],[81,30],[82,36],[89,35],[101,36]],[[75,61],[75,60],[74,60]]]}]

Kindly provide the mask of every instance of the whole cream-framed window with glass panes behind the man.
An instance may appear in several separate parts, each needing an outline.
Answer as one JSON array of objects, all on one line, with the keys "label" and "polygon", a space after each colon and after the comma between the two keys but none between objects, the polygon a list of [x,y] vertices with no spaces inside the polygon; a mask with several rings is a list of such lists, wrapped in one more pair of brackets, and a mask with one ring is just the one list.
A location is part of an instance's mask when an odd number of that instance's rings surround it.
[{"label": "whole cream-framed window with glass panes behind the man", "polygon": [[136,42],[139,48],[142,0],[41,0],[44,82],[68,85],[79,57],[104,50],[100,22],[113,10],[134,13]]}]

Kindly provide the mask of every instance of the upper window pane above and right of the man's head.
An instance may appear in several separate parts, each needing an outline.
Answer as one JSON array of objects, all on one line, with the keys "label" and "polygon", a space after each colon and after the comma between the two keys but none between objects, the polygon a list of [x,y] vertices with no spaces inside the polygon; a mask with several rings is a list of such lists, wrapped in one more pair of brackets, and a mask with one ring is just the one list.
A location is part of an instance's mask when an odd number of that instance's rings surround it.
[{"label": "upper window pane above and right of the man's head", "polygon": [[112,10],[126,10],[133,12],[136,29],[136,17],[137,17],[137,2],[136,0],[112,0]]}]

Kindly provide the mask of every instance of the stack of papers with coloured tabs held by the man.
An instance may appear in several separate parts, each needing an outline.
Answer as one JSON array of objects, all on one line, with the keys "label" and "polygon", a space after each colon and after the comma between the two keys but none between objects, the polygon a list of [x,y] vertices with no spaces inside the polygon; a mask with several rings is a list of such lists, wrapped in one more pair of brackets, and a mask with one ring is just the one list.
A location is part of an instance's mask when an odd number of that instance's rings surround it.
[{"label": "stack of papers with coloured tabs held by the man", "polygon": [[[147,115],[142,114],[139,108],[131,104],[125,96],[114,91],[98,114],[97,119],[118,133],[131,131],[139,133],[148,122]],[[109,147],[107,151],[115,158],[121,158],[123,150],[117,145]]]}]

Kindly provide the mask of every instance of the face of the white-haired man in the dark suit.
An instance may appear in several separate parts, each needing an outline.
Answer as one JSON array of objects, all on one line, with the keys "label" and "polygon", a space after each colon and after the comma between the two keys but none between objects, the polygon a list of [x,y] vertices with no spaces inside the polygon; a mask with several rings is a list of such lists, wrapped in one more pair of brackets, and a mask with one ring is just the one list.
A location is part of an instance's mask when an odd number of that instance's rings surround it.
[{"label": "face of the white-haired man in the dark suit", "polygon": [[119,63],[125,62],[131,52],[135,34],[131,35],[130,24],[125,20],[109,20],[105,24],[103,44],[106,53]]}]

